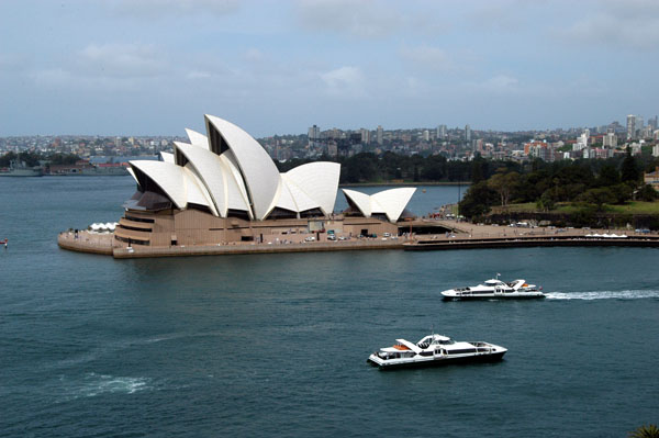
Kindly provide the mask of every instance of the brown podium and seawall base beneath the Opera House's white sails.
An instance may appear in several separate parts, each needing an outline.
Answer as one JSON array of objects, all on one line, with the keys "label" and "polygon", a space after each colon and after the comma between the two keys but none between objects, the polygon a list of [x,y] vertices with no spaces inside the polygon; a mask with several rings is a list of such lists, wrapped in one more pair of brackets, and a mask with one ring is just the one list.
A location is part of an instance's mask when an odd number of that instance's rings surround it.
[{"label": "brown podium and seawall base beneath the Opera House's white sails", "polygon": [[402,249],[406,240],[382,239],[387,233],[396,236],[399,226],[375,217],[248,221],[193,209],[126,210],[114,233],[65,232],[57,242],[64,249],[115,258]]}]

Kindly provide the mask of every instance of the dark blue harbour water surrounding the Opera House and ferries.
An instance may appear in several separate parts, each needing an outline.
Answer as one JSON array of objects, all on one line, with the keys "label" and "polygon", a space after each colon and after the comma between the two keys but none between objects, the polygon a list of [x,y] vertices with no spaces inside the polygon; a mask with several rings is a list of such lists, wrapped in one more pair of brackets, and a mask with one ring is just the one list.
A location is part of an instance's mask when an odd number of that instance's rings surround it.
[{"label": "dark blue harbour water surrounding the Opera House and ferries", "polygon": [[[659,251],[530,248],[118,261],[59,250],[129,178],[0,179],[0,435],[623,437],[659,416]],[[415,194],[417,213],[455,188]],[[421,209],[421,211],[420,211]],[[543,302],[445,303],[501,272]],[[493,364],[380,372],[434,327]]]}]

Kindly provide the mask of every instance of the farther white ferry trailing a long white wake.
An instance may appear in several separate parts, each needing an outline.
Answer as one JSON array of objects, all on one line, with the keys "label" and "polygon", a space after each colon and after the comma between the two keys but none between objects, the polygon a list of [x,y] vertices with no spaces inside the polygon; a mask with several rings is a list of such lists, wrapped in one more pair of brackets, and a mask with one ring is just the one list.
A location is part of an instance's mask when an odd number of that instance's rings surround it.
[{"label": "farther white ferry trailing a long white wake", "polygon": [[544,299],[543,288],[528,284],[526,280],[515,280],[506,283],[496,279],[487,280],[483,284],[449,289],[442,292],[444,300],[489,300],[489,299]]}]

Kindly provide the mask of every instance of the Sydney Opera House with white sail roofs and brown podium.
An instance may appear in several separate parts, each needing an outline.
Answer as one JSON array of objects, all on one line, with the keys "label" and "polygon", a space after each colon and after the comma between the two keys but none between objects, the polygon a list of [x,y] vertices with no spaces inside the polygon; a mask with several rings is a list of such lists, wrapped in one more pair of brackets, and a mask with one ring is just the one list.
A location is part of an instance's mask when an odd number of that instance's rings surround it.
[{"label": "Sydney Opera House with white sail roofs and brown podium", "polygon": [[130,162],[137,191],[124,204],[114,246],[282,243],[398,234],[415,189],[368,195],[343,190],[340,165],[311,162],[280,173],[261,145],[238,126],[205,115],[206,135],[186,130],[161,160]]}]

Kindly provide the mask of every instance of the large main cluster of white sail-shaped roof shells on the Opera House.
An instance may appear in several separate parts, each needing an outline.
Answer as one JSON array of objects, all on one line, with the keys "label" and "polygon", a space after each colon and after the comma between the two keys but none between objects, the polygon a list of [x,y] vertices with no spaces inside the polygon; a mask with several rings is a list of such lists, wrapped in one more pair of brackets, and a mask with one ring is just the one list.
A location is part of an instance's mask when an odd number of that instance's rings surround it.
[{"label": "large main cluster of white sail-shaped roof shells on the Opera House", "polygon": [[[253,220],[264,220],[275,207],[333,212],[340,165],[312,162],[279,173],[268,153],[245,131],[213,115],[205,121],[208,136],[186,130],[191,143],[175,142],[175,154],[161,153],[163,161],[131,161],[129,171],[137,183],[148,178],[178,209],[205,205],[222,217],[244,211]],[[361,206],[369,214],[371,203]]]}]

